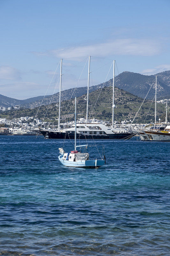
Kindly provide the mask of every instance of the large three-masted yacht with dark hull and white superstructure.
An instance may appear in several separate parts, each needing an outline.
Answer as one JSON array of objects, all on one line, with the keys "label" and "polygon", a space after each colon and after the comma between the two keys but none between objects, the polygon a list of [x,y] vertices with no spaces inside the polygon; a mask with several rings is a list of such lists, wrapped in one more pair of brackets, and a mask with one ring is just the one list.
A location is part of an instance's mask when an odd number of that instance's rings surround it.
[{"label": "large three-masted yacht with dark hull and white superstructure", "polygon": [[[88,83],[87,83],[87,107],[86,107],[86,123],[77,124],[77,138],[79,139],[126,139],[133,135],[127,129],[114,128],[114,94],[115,94],[115,60],[113,61],[113,104],[112,104],[112,126],[108,127],[104,124],[89,123],[88,110],[89,110],[89,83],[90,83],[90,56],[88,66]],[[60,116],[61,116],[61,86],[62,86],[62,59],[60,67],[60,94],[59,94],[59,116],[58,116],[58,129],[41,129],[41,134],[44,138],[48,139],[73,139],[74,138],[74,126],[72,128],[63,129],[60,128]]]}]

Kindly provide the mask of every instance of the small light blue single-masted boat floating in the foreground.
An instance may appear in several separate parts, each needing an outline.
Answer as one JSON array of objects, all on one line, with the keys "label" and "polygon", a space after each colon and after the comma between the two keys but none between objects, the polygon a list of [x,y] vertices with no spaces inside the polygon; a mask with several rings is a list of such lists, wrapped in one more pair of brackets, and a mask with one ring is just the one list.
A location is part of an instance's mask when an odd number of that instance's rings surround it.
[{"label": "small light blue single-masted boat floating in the foreground", "polygon": [[[76,131],[76,98],[75,98],[75,131],[74,131],[74,136],[75,136],[75,142],[74,142],[74,150],[68,153],[65,153],[63,148],[59,148],[60,150],[60,156],[58,156],[59,161],[64,165],[64,166],[71,166],[71,167],[89,167],[89,168],[98,168],[106,163],[105,161],[105,156],[103,159],[89,159],[89,153],[86,152],[87,146],[88,145],[76,145],[76,140],[77,140],[77,131]],[[78,152],[77,148],[84,148],[84,152]]]}]

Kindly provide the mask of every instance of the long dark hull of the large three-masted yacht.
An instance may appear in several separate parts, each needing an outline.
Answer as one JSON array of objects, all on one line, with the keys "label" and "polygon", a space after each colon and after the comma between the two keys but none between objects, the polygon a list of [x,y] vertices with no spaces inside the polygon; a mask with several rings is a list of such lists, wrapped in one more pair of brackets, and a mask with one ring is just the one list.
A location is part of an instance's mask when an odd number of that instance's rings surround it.
[{"label": "long dark hull of the large three-masted yacht", "polygon": [[[40,131],[44,137],[48,135],[48,139],[74,139],[74,133],[68,133],[68,132],[45,132],[45,131]],[[77,139],[126,139],[129,136],[131,136],[132,133],[113,133],[113,134],[87,134],[83,135],[81,133],[77,133]]]}]

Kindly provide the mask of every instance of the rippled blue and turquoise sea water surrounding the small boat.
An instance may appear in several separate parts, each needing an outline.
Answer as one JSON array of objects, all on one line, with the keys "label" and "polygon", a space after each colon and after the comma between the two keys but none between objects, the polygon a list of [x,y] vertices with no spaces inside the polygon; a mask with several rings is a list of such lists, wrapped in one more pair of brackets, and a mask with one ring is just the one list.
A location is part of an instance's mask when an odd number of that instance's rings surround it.
[{"label": "rippled blue and turquoise sea water surrounding the small boat", "polygon": [[63,140],[0,136],[0,255],[169,256],[170,143],[95,142],[107,165],[74,169]]}]

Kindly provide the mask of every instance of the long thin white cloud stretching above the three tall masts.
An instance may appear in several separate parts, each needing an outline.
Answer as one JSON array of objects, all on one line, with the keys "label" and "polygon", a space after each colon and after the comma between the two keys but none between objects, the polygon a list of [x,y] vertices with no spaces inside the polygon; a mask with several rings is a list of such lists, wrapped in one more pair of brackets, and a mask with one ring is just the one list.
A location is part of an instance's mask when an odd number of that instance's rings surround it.
[{"label": "long thin white cloud stretching above the three tall masts", "polygon": [[73,58],[94,55],[98,57],[113,55],[142,55],[151,56],[160,52],[159,43],[148,39],[115,39],[104,43],[89,44],[51,50],[47,52],[34,52],[37,55],[54,55],[59,58]]}]

